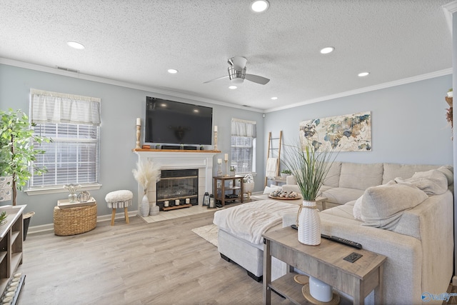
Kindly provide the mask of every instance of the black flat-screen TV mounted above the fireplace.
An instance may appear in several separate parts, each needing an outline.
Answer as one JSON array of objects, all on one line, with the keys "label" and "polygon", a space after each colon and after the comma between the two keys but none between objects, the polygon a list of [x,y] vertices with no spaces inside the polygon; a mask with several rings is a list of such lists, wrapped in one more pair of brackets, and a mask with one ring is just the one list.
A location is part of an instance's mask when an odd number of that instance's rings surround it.
[{"label": "black flat-screen TV mounted above the fireplace", "polygon": [[146,96],[145,121],[145,142],[211,145],[211,107]]}]

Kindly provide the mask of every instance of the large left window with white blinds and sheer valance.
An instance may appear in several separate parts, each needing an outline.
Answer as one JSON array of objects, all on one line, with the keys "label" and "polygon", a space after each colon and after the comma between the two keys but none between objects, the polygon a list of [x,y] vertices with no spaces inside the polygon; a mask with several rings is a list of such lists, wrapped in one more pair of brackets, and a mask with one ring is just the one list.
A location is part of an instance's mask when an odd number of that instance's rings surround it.
[{"label": "large left window with white blinds and sheer valance", "polygon": [[47,172],[32,175],[29,189],[61,188],[64,184],[99,184],[100,99],[31,89],[34,133],[51,143],[35,164]]}]

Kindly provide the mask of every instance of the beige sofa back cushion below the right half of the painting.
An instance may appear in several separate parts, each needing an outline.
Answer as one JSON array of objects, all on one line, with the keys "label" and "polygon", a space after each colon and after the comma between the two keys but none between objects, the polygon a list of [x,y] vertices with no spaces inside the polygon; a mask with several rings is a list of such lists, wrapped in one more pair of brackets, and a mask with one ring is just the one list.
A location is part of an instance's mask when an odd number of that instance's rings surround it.
[{"label": "beige sofa back cushion below the right half of the painting", "polygon": [[358,164],[343,162],[343,164],[341,164],[340,181],[338,184],[339,187],[346,189],[366,190],[370,186],[377,186],[382,184],[382,181],[382,163]]}]

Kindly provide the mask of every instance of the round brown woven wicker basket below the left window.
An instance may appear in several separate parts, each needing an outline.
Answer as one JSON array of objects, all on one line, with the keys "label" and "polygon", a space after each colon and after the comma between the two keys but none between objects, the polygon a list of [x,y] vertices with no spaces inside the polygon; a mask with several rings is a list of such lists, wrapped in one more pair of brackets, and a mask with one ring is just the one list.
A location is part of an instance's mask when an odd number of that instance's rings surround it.
[{"label": "round brown woven wicker basket below the left window", "polygon": [[54,206],[54,234],[58,236],[85,233],[95,229],[96,224],[96,204],[68,209],[60,209],[59,206]]}]

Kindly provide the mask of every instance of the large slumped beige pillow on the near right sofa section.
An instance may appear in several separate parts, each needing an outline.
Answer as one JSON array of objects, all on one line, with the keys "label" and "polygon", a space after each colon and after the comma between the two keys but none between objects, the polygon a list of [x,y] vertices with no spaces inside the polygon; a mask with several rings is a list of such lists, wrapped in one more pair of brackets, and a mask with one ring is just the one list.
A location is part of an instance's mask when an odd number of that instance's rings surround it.
[{"label": "large slumped beige pillow on the near right sofa section", "polygon": [[363,193],[361,214],[364,226],[393,229],[406,209],[411,209],[428,198],[427,194],[411,184],[373,186]]}]

